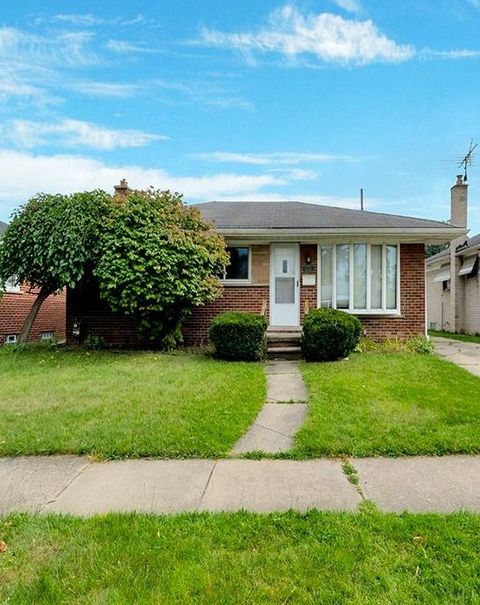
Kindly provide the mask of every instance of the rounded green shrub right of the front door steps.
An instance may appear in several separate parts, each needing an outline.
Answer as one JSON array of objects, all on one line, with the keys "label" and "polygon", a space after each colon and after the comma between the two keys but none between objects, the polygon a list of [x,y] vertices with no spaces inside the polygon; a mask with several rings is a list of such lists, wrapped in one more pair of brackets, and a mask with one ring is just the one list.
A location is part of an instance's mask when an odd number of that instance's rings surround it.
[{"label": "rounded green shrub right of the front door steps", "polygon": [[362,324],[354,315],[336,309],[313,309],[303,321],[303,357],[307,361],[343,359],[355,350],[361,334]]}]

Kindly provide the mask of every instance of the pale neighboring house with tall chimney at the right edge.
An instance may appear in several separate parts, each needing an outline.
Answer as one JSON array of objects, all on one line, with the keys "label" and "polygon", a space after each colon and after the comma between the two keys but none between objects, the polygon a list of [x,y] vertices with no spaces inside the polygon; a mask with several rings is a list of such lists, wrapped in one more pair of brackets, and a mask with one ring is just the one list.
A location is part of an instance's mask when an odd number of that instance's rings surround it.
[{"label": "pale neighboring house with tall chimney at the right edge", "polygon": [[[452,222],[467,226],[468,185],[461,176],[452,187]],[[480,235],[452,241],[427,266],[427,321],[431,329],[480,333]]]}]

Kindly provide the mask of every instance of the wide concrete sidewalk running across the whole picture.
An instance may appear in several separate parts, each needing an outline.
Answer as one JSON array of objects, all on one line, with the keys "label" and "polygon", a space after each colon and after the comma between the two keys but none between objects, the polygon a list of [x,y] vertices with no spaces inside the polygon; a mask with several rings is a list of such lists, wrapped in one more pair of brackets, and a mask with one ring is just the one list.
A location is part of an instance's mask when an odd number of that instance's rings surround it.
[{"label": "wide concrete sidewalk running across the whole picture", "polygon": [[480,512],[480,456],[350,462],[358,486],[340,460],[0,458],[0,514],[354,511],[364,499],[393,512]]}]

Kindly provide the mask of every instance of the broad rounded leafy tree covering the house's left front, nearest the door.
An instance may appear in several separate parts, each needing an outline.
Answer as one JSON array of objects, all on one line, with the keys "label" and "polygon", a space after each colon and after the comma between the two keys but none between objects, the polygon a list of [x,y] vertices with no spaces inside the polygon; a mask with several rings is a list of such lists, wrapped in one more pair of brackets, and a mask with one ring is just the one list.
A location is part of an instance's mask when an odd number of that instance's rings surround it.
[{"label": "broad rounded leafy tree covering the house's left front, nearest the door", "polygon": [[228,256],[198,210],[170,191],[116,198],[94,275],[114,311],[133,317],[152,344],[181,340],[181,320],[214,300]]}]

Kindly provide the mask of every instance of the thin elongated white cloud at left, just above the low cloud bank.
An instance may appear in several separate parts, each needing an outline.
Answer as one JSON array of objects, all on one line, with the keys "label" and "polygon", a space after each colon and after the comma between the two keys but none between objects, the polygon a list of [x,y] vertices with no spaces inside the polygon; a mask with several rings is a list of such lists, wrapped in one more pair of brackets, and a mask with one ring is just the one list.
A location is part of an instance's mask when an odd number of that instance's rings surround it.
[{"label": "thin elongated white cloud at left, just above the low cloud bank", "polygon": [[80,120],[61,120],[48,124],[30,120],[12,120],[0,129],[3,139],[18,147],[60,145],[112,150],[143,147],[168,137],[140,130],[112,130]]}]

